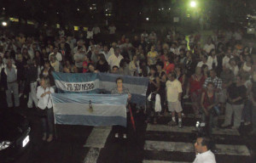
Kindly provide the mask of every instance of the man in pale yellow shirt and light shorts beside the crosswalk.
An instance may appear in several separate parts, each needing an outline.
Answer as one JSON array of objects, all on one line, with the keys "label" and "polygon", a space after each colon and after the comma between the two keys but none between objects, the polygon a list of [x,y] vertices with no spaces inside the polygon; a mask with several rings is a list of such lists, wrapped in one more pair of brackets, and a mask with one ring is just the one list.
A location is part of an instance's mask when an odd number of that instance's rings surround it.
[{"label": "man in pale yellow shirt and light shorts beside the crosswalk", "polygon": [[181,98],[183,93],[182,84],[177,80],[175,72],[171,72],[167,75],[168,81],[166,82],[166,96],[168,110],[172,112],[172,121],[168,123],[170,126],[177,125],[175,119],[175,112],[178,116],[178,127],[183,127],[182,124],[182,105]]}]

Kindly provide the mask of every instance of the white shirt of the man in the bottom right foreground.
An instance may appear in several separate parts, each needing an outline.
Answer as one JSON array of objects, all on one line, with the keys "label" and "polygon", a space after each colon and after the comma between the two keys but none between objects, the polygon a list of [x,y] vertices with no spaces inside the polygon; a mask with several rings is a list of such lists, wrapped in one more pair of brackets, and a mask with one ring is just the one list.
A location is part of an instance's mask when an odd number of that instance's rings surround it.
[{"label": "white shirt of the man in the bottom right foreground", "polygon": [[215,155],[211,150],[202,154],[197,154],[193,163],[216,163]]}]

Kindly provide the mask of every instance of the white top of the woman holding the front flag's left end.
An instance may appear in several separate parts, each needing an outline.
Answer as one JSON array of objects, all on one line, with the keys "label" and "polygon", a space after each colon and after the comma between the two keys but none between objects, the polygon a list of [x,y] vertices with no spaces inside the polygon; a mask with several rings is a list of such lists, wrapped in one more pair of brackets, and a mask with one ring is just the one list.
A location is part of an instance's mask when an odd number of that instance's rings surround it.
[{"label": "white top of the woman holding the front flag's left end", "polygon": [[38,108],[41,110],[44,110],[47,108],[52,108],[52,99],[50,94],[46,94],[43,98],[41,98],[41,95],[46,92],[55,93],[55,90],[53,87],[47,87],[45,90],[42,86],[38,86],[37,89],[37,98],[38,98]]}]

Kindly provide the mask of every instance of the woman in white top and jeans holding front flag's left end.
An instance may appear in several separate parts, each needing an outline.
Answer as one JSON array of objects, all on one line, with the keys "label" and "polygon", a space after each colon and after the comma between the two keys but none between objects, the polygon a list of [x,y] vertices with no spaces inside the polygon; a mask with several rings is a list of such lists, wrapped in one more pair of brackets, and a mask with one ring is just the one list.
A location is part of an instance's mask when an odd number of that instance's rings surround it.
[{"label": "woman in white top and jeans holding front flag's left end", "polygon": [[45,141],[47,135],[47,142],[51,142],[53,140],[53,132],[54,132],[54,115],[52,109],[52,99],[50,94],[55,93],[53,87],[50,87],[49,77],[44,76],[41,78],[40,86],[38,86],[37,90],[37,98],[38,98],[38,109],[42,111],[42,126],[43,126],[43,140]]}]

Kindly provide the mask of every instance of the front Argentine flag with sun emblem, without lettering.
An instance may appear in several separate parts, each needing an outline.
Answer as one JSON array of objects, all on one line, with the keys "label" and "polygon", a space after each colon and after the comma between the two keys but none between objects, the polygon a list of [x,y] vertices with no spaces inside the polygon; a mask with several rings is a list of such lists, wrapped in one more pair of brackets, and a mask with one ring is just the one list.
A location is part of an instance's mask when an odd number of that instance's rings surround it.
[{"label": "front Argentine flag with sun emblem, without lettering", "polygon": [[127,98],[127,94],[53,93],[55,124],[126,126]]}]

